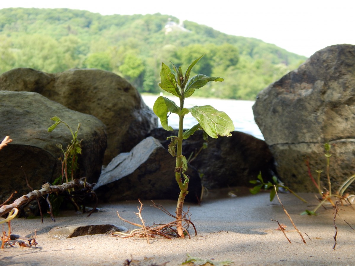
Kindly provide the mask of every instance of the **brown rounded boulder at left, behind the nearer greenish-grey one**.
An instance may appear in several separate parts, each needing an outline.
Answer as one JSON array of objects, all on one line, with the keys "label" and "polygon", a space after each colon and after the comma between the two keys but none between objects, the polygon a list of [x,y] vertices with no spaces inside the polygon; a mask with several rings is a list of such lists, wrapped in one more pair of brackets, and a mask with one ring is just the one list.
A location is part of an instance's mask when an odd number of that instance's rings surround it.
[{"label": "brown rounded boulder at left, behind the nearer greenish-grey one", "polygon": [[0,90],[37,92],[72,110],[99,118],[107,132],[105,165],[119,153],[129,152],[157,127],[156,116],[137,90],[108,71],[71,69],[49,74],[16,68],[0,76]]}]

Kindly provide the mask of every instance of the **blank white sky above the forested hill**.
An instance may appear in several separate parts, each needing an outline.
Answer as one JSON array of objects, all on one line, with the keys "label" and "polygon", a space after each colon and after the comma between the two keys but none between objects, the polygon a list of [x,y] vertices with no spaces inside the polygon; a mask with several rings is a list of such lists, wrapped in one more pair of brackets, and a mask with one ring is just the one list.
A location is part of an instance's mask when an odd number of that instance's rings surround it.
[{"label": "blank white sky above the forested hill", "polygon": [[66,7],[102,15],[159,12],[305,56],[333,44],[355,44],[353,0],[0,0],[0,9],[7,7]]}]

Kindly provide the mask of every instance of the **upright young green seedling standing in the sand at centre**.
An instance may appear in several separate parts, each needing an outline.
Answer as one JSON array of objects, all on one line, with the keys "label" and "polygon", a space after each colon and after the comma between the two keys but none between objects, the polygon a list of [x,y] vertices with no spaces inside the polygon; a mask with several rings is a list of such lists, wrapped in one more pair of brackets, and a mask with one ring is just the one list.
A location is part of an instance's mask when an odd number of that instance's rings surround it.
[{"label": "upright young green seedling standing in the sand at centre", "polygon": [[[176,207],[176,221],[180,237],[184,237],[184,234],[181,221],[178,220],[181,220],[185,196],[189,193],[189,177],[185,174],[187,170],[187,159],[182,155],[182,140],[189,138],[197,130],[203,130],[203,139],[206,141],[208,136],[212,138],[218,138],[218,136],[228,137],[231,136],[230,132],[234,131],[233,121],[229,116],[224,112],[214,109],[210,105],[193,106],[190,108],[184,107],[185,98],[190,97],[196,89],[202,88],[210,81],[223,81],[223,78],[208,77],[202,74],[190,78],[193,66],[195,66],[203,56],[204,54],[193,61],[187,68],[185,74],[182,73],[181,67],[176,67],[174,63],[170,61],[177,76],[171,72],[167,65],[162,63],[162,69],[160,71],[161,82],[159,83],[159,87],[178,97],[180,100],[180,106],[177,106],[174,101],[163,96],[159,96],[153,106],[155,115],[159,117],[162,127],[167,131],[173,131],[173,128],[168,125],[168,116],[170,113],[175,113],[179,116],[178,136],[171,136],[167,139],[171,139],[171,143],[168,147],[169,153],[173,157],[176,157],[175,179],[180,188],[178,205]],[[184,117],[187,113],[191,113],[198,123],[183,132]],[[181,175],[184,179],[182,179]]]}]

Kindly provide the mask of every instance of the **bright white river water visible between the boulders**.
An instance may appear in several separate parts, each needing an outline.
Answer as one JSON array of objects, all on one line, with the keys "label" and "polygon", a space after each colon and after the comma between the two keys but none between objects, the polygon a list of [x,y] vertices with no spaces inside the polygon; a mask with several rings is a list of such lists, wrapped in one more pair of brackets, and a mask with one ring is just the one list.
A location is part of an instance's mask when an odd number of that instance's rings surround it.
[{"label": "bright white river water visible between the boulders", "polygon": [[[180,103],[178,102],[178,98],[165,94],[163,96],[175,101],[178,106],[180,105]],[[158,96],[142,95],[142,98],[146,105],[149,108],[153,109],[154,102],[158,98]],[[231,118],[231,120],[233,120],[235,131],[241,131],[253,135],[256,138],[264,139],[263,135],[260,132],[260,129],[254,121],[254,115],[252,110],[253,104],[254,101],[189,97],[185,99],[184,107],[193,107],[195,105],[211,105],[218,111],[225,112]],[[160,121],[158,123],[161,127]],[[179,117],[172,113],[168,118],[168,124],[174,129],[178,129]],[[192,117],[191,113],[187,114],[184,119],[184,128],[190,128],[195,124],[197,124],[196,119]]]}]

